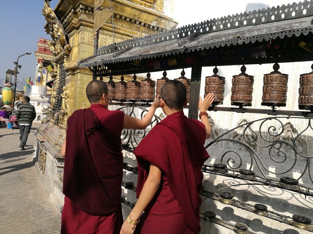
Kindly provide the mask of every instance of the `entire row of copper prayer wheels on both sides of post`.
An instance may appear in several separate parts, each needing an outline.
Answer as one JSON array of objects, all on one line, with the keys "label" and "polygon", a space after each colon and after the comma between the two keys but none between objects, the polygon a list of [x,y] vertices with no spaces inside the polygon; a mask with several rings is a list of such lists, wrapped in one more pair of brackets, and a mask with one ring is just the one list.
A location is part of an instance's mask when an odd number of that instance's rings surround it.
[{"label": "entire row of copper prayer wheels on both sides of post", "polygon": [[[263,77],[263,95],[261,105],[270,107],[286,106],[287,101],[287,83],[288,74],[282,74],[278,71],[280,68],[278,63],[273,66],[274,71],[264,74]],[[313,70],[313,64],[311,66]],[[241,67],[241,73],[233,76],[231,89],[231,105],[240,107],[252,105],[252,93],[254,76],[246,73],[246,67]],[[213,75],[207,76],[205,79],[204,93],[214,93],[213,105],[221,105],[224,100],[225,77],[219,76],[218,69],[213,69]],[[190,79],[185,77],[185,71],[182,70],[181,77],[174,79],[182,82],[187,89],[187,100],[190,95]],[[142,101],[152,102],[156,95],[161,93],[162,87],[169,79],[166,77],[166,71],[163,72],[163,77],[156,81],[151,80],[150,73],[147,74],[145,80],[137,81],[136,75],[132,81],[125,82],[121,76],[120,82],[114,82],[110,76],[110,81],[106,82],[110,90],[111,99],[117,101]],[[300,75],[299,88],[299,109],[313,110],[313,71]]]}]

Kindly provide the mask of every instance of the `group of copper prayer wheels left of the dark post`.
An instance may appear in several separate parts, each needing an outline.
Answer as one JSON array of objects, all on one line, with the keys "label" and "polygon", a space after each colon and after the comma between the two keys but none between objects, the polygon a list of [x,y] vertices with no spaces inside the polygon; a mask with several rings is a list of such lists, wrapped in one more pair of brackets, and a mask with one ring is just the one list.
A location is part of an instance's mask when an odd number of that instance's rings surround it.
[{"label": "group of copper prayer wheels left of the dark post", "polygon": [[[189,101],[190,95],[190,79],[185,77],[185,71],[182,70],[181,77],[174,79],[182,82],[187,89],[187,100]],[[141,101],[141,102],[153,102],[157,95],[161,94],[162,87],[169,79],[166,77],[166,71],[163,72],[163,77],[156,81],[151,80],[150,73],[147,74],[145,80],[141,82],[137,81],[136,74],[133,76],[133,80],[125,82],[124,76],[121,76],[121,81],[114,82],[113,77],[110,76],[110,80],[105,82],[110,91],[111,100],[116,101]]]}]

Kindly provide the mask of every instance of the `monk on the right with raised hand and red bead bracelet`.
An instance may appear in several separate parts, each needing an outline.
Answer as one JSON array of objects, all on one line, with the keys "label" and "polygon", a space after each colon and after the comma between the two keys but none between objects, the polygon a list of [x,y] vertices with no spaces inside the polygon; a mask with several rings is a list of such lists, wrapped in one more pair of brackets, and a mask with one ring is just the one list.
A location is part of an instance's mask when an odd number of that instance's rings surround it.
[{"label": "monk on the right with raised hand and red bead bracelet", "polygon": [[201,230],[198,194],[202,188],[201,168],[209,158],[203,145],[211,135],[206,111],[213,94],[199,100],[202,123],[184,115],[186,88],[181,82],[167,82],[160,97],[167,117],[134,151],[139,198],[120,234],[193,234]]}]

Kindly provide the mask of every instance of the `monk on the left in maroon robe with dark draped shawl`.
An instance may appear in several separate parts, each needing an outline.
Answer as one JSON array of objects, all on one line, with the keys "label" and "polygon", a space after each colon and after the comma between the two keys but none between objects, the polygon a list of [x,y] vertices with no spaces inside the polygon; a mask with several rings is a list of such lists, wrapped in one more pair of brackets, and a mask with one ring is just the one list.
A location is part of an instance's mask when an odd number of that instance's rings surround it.
[{"label": "monk on the left in maroon robe with dark draped shawl", "polygon": [[118,234],[123,223],[121,131],[145,129],[160,100],[141,120],[108,110],[110,93],[103,81],[91,81],[86,95],[90,108],[69,117],[61,147],[65,157],[61,233]]}]

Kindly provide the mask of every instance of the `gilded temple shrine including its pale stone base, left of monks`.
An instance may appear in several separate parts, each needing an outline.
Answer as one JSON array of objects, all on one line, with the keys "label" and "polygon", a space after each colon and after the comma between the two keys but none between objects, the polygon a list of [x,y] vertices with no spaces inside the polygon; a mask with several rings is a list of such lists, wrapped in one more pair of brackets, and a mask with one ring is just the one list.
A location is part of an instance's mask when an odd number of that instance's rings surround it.
[{"label": "gilded temple shrine including its pale stone base, left of monks", "polygon": [[[43,109],[46,118],[37,133],[34,158],[38,160],[36,168],[43,184],[60,210],[64,202],[64,158],[60,156],[60,147],[67,119],[75,110],[90,105],[85,89],[92,80],[92,71],[78,68],[77,62],[94,54],[95,2],[113,9],[112,16],[100,27],[99,47],[177,26],[177,22],[162,12],[163,0],[59,0],[54,10],[49,0],[44,1],[42,14],[47,21],[44,29],[51,36],[48,45],[54,54],[54,70],[50,75],[55,80],[51,89],[51,105]],[[132,77],[125,76],[125,80],[132,80]]]}]

